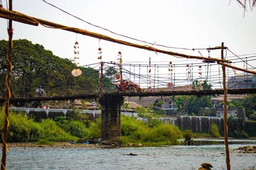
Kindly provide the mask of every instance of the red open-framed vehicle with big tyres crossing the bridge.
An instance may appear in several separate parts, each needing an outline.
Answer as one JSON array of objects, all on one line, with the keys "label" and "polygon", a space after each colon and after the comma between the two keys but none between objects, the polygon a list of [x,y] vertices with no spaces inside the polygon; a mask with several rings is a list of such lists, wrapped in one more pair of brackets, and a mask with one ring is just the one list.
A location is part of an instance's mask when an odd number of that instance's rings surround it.
[{"label": "red open-framed vehicle with big tyres crossing the bridge", "polygon": [[116,82],[116,87],[114,88],[114,92],[140,92],[141,88],[139,85],[135,84],[134,82],[131,82],[130,80],[122,79]]}]

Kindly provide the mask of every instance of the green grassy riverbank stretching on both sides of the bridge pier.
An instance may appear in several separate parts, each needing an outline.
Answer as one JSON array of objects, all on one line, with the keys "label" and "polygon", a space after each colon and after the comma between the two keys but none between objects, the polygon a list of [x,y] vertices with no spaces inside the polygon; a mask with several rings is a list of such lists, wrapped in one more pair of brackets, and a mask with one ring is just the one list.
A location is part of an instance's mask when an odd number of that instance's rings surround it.
[{"label": "green grassy riverbank stretching on both sides of the bridge pier", "polygon": [[[74,113],[76,114],[76,113]],[[8,142],[64,142],[67,139],[76,141],[79,138],[101,136],[101,119],[88,121],[86,117],[77,115],[66,118],[59,116],[53,119],[42,119],[35,122],[25,113],[9,113]],[[81,121],[82,120],[82,121]],[[4,111],[0,109],[0,128],[3,130]],[[121,142],[141,144],[175,144],[180,139],[181,132],[173,125],[163,125],[154,120],[154,125],[149,127],[145,122],[138,121],[128,116],[121,116]]]}]

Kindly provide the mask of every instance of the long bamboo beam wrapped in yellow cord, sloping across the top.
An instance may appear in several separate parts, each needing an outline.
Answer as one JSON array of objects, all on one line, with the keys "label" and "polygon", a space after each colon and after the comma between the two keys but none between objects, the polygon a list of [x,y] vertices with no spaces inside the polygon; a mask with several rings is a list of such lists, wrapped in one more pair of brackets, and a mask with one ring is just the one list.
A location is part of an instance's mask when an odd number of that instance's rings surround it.
[{"label": "long bamboo beam wrapped in yellow cord, sloping across the top", "polygon": [[100,40],[106,40],[106,41],[115,42],[115,43],[122,44],[122,45],[128,45],[128,46],[135,47],[135,48],[141,48],[141,49],[144,49],[144,50],[155,51],[155,52],[163,53],[163,54],[169,54],[169,55],[172,55],[172,56],[179,56],[179,57],[184,57],[184,58],[187,58],[187,59],[203,59],[203,60],[209,60],[209,61],[215,61],[215,62],[217,62],[217,61],[231,62],[231,61],[224,60],[224,59],[189,56],[189,55],[186,55],[186,54],[180,54],[180,53],[175,53],[175,52],[171,52],[171,51],[164,51],[164,50],[160,50],[160,49],[157,49],[157,48],[153,48],[149,45],[138,45],[138,44],[134,44],[134,43],[131,43],[131,42],[117,40],[117,39],[114,39],[114,38],[111,38],[111,37],[108,37],[108,36],[105,36],[105,35],[102,35],[102,34],[97,34],[97,33],[94,33],[94,32],[82,30],[82,29],[79,29],[79,28],[63,26],[63,25],[60,25],[60,24],[57,24],[57,23],[52,23],[52,22],[49,22],[49,21],[46,21],[46,20],[41,20],[39,18],[29,17],[29,16],[26,16],[24,14],[21,14],[19,12],[15,12],[15,11],[7,11],[7,10],[1,10],[0,9],[0,14],[20,18],[20,19],[27,20],[27,21],[30,21],[30,22],[37,21],[38,23],[41,23],[45,26],[50,26],[52,28],[59,28],[59,29],[63,29],[63,30],[66,30],[66,31],[75,32],[77,34],[82,34],[82,35],[87,35],[89,37],[98,38]]}]

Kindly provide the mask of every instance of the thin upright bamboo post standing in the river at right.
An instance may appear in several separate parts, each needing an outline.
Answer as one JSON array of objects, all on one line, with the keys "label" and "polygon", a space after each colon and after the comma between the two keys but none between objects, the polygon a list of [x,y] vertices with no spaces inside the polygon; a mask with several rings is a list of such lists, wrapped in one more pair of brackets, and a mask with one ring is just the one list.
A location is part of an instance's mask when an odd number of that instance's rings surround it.
[{"label": "thin upright bamboo post standing in the river at right", "polygon": [[[224,42],[221,43],[221,59],[224,59],[223,56],[223,49],[224,49]],[[229,148],[228,148],[228,141],[227,141],[227,87],[226,87],[226,70],[225,66],[222,66],[222,72],[223,72],[223,91],[224,91],[224,142],[226,147],[226,164],[227,164],[227,170],[230,170],[230,157],[229,157]]]}]

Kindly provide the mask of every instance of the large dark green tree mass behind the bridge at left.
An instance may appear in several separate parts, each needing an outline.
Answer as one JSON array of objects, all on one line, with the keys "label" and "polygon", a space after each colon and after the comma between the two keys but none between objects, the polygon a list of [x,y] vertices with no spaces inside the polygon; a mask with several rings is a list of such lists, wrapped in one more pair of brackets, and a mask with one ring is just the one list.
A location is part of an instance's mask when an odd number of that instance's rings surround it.
[{"label": "large dark green tree mass behind the bridge at left", "polygon": [[[6,89],[8,41],[0,40],[0,93]],[[70,59],[60,58],[43,45],[29,40],[13,40],[12,96],[29,97],[39,85],[47,95],[67,95],[98,91],[99,73],[93,68],[81,68],[83,74],[74,77],[76,65]]]}]

